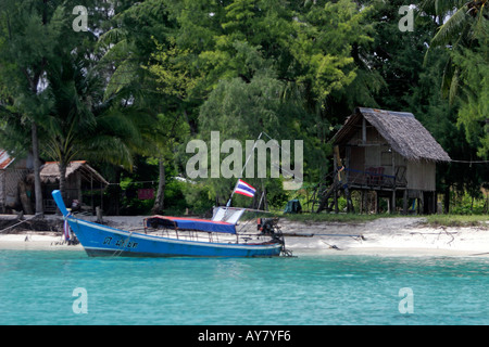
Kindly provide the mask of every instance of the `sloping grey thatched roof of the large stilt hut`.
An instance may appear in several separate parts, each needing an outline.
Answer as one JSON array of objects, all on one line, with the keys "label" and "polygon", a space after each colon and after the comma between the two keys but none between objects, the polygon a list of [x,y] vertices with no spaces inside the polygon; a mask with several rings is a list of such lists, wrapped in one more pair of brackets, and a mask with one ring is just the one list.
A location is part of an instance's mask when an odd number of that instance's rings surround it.
[{"label": "sloping grey thatched roof of the large stilt hut", "polygon": [[412,113],[358,107],[330,142],[346,144],[362,118],[374,126],[389,145],[409,160],[450,162],[450,156]]}]

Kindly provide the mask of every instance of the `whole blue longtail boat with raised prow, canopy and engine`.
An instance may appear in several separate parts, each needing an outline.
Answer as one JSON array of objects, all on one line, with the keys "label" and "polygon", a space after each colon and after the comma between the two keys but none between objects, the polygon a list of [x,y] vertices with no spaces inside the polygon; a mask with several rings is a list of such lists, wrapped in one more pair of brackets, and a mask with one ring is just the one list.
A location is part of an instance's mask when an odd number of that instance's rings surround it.
[{"label": "whole blue longtail boat with raised prow, canopy and engine", "polygon": [[121,257],[273,257],[289,255],[275,219],[259,218],[254,232],[238,232],[246,208],[218,207],[211,220],[152,216],[140,232],[84,220],[65,206],[61,192],[52,196],[89,256]]}]

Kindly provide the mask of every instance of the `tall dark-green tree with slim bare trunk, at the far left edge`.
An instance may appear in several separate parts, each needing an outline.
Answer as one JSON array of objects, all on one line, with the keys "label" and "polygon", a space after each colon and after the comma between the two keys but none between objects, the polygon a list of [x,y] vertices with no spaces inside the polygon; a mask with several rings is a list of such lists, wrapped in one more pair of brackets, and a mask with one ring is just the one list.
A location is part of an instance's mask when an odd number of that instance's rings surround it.
[{"label": "tall dark-green tree with slim bare trunk, at the far left edge", "polygon": [[63,8],[57,1],[2,1],[0,4],[0,79],[2,103],[23,117],[30,128],[34,157],[36,215],[43,215],[40,185],[38,121],[48,108],[46,68],[55,59],[64,34]]}]

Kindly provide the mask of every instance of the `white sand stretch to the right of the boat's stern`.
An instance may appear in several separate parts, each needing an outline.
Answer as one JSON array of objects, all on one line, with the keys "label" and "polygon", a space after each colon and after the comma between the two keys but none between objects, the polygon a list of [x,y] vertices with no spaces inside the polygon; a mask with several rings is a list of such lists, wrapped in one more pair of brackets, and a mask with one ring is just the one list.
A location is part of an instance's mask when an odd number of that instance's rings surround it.
[{"label": "white sand stretch to the right of the boat's stern", "polygon": [[378,255],[489,256],[489,229],[482,227],[426,227],[423,217],[379,218],[359,224],[283,222],[287,233],[311,234],[287,237],[298,253]]}]

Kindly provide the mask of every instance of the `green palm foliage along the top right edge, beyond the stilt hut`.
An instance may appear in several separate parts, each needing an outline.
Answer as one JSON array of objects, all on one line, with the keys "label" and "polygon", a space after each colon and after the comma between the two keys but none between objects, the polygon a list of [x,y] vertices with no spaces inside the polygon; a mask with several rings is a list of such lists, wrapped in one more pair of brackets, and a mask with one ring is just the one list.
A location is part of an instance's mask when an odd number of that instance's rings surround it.
[{"label": "green palm foliage along the top right edge, beyond the stilt hut", "polygon": [[428,53],[437,47],[450,53],[441,89],[451,103],[460,102],[459,125],[465,127],[467,141],[479,147],[478,155],[488,157],[488,3],[426,0],[423,10],[438,16],[441,24]]}]

